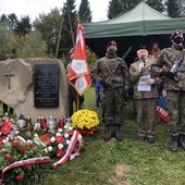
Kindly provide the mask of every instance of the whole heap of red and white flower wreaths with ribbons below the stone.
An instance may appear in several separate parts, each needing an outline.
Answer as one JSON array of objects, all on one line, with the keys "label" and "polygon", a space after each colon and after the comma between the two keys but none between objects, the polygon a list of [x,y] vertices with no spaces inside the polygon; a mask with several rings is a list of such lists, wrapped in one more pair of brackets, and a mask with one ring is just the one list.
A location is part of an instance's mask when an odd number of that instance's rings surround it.
[{"label": "whole heap of red and white flower wreaths with ribbons below the stone", "polygon": [[51,134],[18,130],[13,121],[0,122],[0,184],[39,184],[44,172],[79,156],[82,147],[82,135],[71,125],[64,124]]}]

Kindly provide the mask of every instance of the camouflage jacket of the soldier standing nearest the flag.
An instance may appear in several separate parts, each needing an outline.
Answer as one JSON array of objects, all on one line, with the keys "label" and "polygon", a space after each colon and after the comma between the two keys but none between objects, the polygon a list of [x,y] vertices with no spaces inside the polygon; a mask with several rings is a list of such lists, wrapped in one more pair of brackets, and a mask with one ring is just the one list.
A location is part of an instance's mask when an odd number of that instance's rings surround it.
[{"label": "camouflage jacket of the soldier standing nearest the flag", "polygon": [[[115,66],[118,67],[115,72],[112,73]],[[96,82],[102,79],[107,82],[110,75],[111,81],[108,89],[124,87],[125,90],[128,90],[128,69],[126,62],[116,55],[110,58],[108,53],[106,53],[106,57],[96,61],[91,70],[91,77]]]}]

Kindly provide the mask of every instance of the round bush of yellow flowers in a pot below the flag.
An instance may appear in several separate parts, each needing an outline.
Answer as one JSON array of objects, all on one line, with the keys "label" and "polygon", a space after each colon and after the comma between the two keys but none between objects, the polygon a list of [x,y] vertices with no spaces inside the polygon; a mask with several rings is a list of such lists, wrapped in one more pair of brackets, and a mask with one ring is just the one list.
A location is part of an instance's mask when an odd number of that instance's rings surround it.
[{"label": "round bush of yellow flowers in a pot below the flag", "polygon": [[78,110],[72,116],[72,126],[82,134],[94,134],[99,125],[99,119],[95,111],[88,109]]}]

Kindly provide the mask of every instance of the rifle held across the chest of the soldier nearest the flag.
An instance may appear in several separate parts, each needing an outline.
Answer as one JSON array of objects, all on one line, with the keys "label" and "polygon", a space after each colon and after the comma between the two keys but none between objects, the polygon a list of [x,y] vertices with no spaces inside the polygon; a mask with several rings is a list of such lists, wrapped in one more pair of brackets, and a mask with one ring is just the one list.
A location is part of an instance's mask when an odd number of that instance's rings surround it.
[{"label": "rifle held across the chest of the soldier nearest the flag", "polygon": [[[123,57],[122,57],[123,60],[127,57],[127,54],[130,53],[132,47],[133,47],[133,46],[131,46],[131,47],[127,49],[127,51],[123,54]],[[113,81],[113,75],[114,75],[115,71],[118,70],[118,67],[119,67],[121,64],[124,66],[124,64],[123,64],[122,62],[119,62],[119,63],[114,66],[114,69],[111,71],[110,75],[108,76],[108,78],[107,78],[107,81],[106,81],[107,84],[111,84],[111,82]],[[114,81],[119,83],[119,82],[120,82],[120,78],[119,78],[119,77],[114,77]]]}]

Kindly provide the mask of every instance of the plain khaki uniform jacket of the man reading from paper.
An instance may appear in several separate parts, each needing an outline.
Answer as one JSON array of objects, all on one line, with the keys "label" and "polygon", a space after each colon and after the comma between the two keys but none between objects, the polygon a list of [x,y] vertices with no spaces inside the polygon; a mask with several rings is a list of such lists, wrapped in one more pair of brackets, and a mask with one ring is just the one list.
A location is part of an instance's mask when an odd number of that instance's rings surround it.
[{"label": "plain khaki uniform jacket of the man reading from paper", "polygon": [[[159,77],[156,77],[156,73],[152,70],[152,64],[155,63],[153,59],[147,59],[146,66],[143,69],[141,72],[138,71],[139,64],[141,60],[138,60],[131,64],[130,67],[130,79],[134,87],[134,99],[145,99],[145,98],[157,98],[158,97],[158,87],[161,83]],[[151,78],[155,79],[155,84],[151,85],[150,91],[138,91],[138,82],[140,76],[150,75]]]}]

